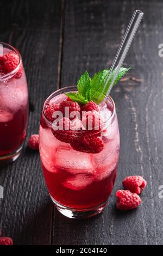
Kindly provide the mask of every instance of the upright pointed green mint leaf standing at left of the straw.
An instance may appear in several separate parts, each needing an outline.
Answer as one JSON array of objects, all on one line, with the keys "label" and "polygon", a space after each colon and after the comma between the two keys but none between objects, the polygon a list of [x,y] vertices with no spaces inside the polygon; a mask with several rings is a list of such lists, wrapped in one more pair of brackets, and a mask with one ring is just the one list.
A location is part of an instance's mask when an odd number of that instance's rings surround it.
[{"label": "upright pointed green mint leaf standing at left of the straw", "polygon": [[82,94],[85,99],[87,99],[86,93],[90,88],[90,82],[91,82],[91,78],[88,72],[85,71],[84,74],[80,76],[77,83],[78,92],[79,94]]}]

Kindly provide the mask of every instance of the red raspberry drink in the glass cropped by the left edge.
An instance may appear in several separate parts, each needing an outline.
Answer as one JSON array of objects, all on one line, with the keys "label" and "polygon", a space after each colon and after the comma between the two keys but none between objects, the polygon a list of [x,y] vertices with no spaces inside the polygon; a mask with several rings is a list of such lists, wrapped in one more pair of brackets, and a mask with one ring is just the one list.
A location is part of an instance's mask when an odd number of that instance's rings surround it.
[{"label": "red raspberry drink in the glass cropped by the left edge", "polygon": [[20,155],[28,119],[28,88],[20,53],[0,45],[0,161]]}]

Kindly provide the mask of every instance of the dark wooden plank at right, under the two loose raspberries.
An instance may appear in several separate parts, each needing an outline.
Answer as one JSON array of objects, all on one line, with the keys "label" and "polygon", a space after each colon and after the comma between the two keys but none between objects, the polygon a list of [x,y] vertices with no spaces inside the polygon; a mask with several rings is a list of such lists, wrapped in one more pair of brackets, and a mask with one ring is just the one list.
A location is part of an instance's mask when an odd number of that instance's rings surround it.
[{"label": "dark wooden plank at right, under the two loose raspberries", "polygon": [[[141,9],[145,17],[124,66],[131,66],[126,82],[111,92],[117,107],[121,156],[114,191],[104,212],[76,221],[55,213],[55,245],[162,244],[162,42],[161,1],[66,1],[61,86],[76,84],[85,70],[92,75],[111,65],[130,17]],[[141,82],[136,82],[141,79]],[[139,209],[120,212],[115,192],[127,175],[147,180]]]}]

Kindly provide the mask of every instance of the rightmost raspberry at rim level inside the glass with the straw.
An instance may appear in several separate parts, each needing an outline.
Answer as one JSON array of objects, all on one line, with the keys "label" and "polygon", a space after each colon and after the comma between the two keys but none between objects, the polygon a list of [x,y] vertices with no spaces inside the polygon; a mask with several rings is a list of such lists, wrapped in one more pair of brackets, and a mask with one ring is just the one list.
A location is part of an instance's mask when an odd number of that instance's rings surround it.
[{"label": "rightmost raspberry at rim level inside the glass with the straw", "polygon": [[82,124],[86,130],[101,131],[103,121],[97,111],[88,111],[83,115]]}]

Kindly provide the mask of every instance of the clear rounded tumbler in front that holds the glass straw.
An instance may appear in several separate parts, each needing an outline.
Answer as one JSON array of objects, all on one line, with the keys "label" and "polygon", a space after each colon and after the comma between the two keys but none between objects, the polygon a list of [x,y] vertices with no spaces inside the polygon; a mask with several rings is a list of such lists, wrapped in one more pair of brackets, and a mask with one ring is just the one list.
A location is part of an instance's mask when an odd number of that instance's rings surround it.
[{"label": "clear rounded tumbler in front that holds the glass straw", "polygon": [[[78,151],[71,143],[62,141],[62,137],[58,139],[53,135],[53,123],[46,115],[47,106],[61,103],[67,98],[65,92],[76,90],[75,86],[59,89],[43,103],[40,158],[47,188],[56,208],[67,217],[86,218],[102,212],[108,202],[116,179],[120,135],[115,103],[110,96],[99,111],[104,120],[97,135],[104,145],[99,153]],[[80,143],[84,143],[86,134],[85,130],[73,132]]]}]

